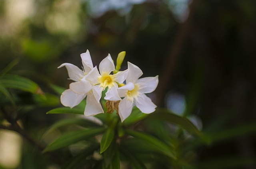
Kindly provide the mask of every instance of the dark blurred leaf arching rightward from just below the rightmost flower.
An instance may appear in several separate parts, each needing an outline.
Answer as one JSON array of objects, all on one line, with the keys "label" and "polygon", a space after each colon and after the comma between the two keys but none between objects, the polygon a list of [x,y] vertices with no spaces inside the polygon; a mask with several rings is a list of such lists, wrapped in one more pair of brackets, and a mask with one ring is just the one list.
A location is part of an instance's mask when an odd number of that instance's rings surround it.
[{"label": "dark blurred leaf arching rightward from just below the rightmost flower", "polygon": [[184,128],[192,134],[196,134],[198,136],[202,135],[202,133],[196,128],[196,126],[194,126],[194,124],[190,122],[187,118],[173,114],[166,109],[157,109],[154,113],[149,114],[147,118],[170,122],[179,125],[180,127]]}]

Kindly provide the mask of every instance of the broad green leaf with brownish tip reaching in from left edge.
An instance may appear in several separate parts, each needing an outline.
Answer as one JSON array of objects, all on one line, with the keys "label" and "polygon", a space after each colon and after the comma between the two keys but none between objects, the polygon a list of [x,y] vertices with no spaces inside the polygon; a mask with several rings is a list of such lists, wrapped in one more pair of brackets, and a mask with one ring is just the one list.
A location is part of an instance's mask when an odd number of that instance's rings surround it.
[{"label": "broad green leaf with brownish tip reaching in from left edge", "polygon": [[36,83],[18,75],[6,74],[4,77],[0,78],[0,83],[6,88],[15,88],[35,94],[43,94],[41,88]]}]

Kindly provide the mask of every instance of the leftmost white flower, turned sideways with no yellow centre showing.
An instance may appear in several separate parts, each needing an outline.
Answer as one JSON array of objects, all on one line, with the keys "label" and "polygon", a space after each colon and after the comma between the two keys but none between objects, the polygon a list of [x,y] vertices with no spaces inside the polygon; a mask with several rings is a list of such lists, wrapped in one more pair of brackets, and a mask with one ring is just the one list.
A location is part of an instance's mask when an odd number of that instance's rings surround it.
[{"label": "leftmost white flower, turned sideways with no yellow centre showing", "polygon": [[[82,53],[81,59],[83,71],[70,63],[63,63],[58,67],[66,66],[70,79],[75,81],[74,83],[70,83],[70,89],[67,89],[62,93],[60,101],[64,106],[73,108],[87,96],[84,115],[93,116],[99,113],[104,113],[101,104],[96,101],[93,95],[93,85],[86,79],[88,74],[94,70],[90,52],[87,50],[86,53]],[[95,69],[97,68],[95,67]]]}]

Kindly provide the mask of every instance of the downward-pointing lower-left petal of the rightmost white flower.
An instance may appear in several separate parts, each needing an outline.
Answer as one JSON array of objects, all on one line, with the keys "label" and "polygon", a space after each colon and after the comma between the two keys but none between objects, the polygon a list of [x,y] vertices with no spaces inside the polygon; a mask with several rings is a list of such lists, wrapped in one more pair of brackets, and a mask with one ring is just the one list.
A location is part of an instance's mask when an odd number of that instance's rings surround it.
[{"label": "downward-pointing lower-left petal of the rightmost white flower", "polygon": [[118,114],[123,122],[132,112],[133,102],[126,97],[119,102]]}]

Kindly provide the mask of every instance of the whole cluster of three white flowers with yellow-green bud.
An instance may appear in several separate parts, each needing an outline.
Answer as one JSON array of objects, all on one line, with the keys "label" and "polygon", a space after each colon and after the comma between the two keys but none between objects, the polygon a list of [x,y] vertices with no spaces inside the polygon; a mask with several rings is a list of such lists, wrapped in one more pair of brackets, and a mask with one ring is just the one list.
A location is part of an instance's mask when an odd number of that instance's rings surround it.
[{"label": "whole cluster of three white flowers with yellow-green bud", "polygon": [[85,116],[104,113],[100,98],[102,91],[107,88],[104,99],[115,102],[115,105],[116,101],[119,102],[118,108],[115,109],[118,110],[122,122],[131,114],[134,104],[143,113],[154,112],[156,105],[145,93],[153,92],[156,89],[158,76],[139,79],[143,74],[142,71],[130,62],[128,62],[128,69],[119,71],[124,55],[125,53],[122,52],[121,55],[118,55],[116,69],[110,54],[108,54],[100,62],[98,71],[96,66],[93,67],[88,50],[81,54],[83,70],[70,63],[60,65],[58,68],[65,66],[70,79],[74,81],[70,83],[70,88],[60,96],[61,103],[73,108],[86,97]]}]

